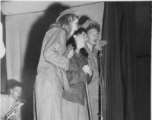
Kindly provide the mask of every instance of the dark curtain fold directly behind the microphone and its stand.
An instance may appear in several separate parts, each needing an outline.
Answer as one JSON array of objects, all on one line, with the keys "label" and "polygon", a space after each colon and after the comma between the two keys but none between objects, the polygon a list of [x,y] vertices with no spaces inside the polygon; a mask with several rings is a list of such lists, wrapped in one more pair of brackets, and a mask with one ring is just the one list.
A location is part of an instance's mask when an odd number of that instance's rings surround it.
[{"label": "dark curtain fold directly behind the microphone and its stand", "polygon": [[120,19],[115,3],[105,3],[103,39],[106,47],[106,120],[123,120],[123,89],[120,67]]}]

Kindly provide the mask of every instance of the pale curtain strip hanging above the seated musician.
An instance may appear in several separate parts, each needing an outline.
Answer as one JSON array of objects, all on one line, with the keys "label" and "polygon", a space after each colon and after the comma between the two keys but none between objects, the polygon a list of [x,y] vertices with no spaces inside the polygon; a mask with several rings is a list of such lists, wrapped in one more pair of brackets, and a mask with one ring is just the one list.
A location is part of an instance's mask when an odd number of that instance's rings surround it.
[{"label": "pale curtain strip hanging above the seated musician", "polygon": [[[6,60],[8,79],[20,81],[21,77],[21,49],[20,49],[20,30],[18,24],[12,24],[12,16],[6,16]],[[15,49],[14,49],[15,48]]]}]

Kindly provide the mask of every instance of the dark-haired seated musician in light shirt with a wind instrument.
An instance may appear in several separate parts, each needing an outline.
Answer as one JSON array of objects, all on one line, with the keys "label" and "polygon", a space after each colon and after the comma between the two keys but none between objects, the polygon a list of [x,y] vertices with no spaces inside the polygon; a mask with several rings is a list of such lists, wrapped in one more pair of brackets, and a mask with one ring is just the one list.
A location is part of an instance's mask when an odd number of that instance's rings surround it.
[{"label": "dark-haired seated musician in light shirt with a wind instrument", "polygon": [[[10,86],[10,94],[0,94],[1,99],[1,107],[0,107],[0,116],[3,120],[6,119],[6,115],[12,111],[12,109],[21,103],[20,97],[22,94],[23,84],[17,81],[14,81]],[[22,104],[22,103],[21,103]],[[20,105],[21,105],[20,104]],[[4,119],[4,120],[5,120]],[[10,120],[19,120],[20,119],[20,112],[17,110],[10,116]]]}]

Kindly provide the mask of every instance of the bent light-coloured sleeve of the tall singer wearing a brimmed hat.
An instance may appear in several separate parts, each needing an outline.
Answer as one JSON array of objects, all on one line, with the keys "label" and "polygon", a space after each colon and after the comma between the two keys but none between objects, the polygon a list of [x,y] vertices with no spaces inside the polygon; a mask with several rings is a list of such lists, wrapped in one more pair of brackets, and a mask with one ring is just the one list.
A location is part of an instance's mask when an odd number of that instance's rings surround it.
[{"label": "bent light-coloured sleeve of the tall singer wearing a brimmed hat", "polygon": [[46,34],[45,39],[47,43],[44,48],[44,57],[48,62],[55,64],[65,70],[69,68],[69,59],[64,57],[65,47],[65,32],[61,30],[56,30],[51,33],[51,35]]}]

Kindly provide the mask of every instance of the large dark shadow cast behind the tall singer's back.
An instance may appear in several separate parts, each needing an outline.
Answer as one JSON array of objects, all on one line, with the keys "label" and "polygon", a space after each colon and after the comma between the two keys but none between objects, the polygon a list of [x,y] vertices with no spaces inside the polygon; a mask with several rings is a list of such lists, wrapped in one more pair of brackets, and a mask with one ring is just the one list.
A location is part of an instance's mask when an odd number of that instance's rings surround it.
[{"label": "large dark shadow cast behind the tall singer's back", "polygon": [[22,72],[22,80],[26,86],[26,91],[24,92],[26,104],[22,109],[22,120],[33,119],[33,85],[37,75],[37,65],[44,35],[50,25],[55,22],[59,13],[68,8],[68,6],[63,6],[60,3],[49,6],[44,11],[44,15],[31,28]]}]

